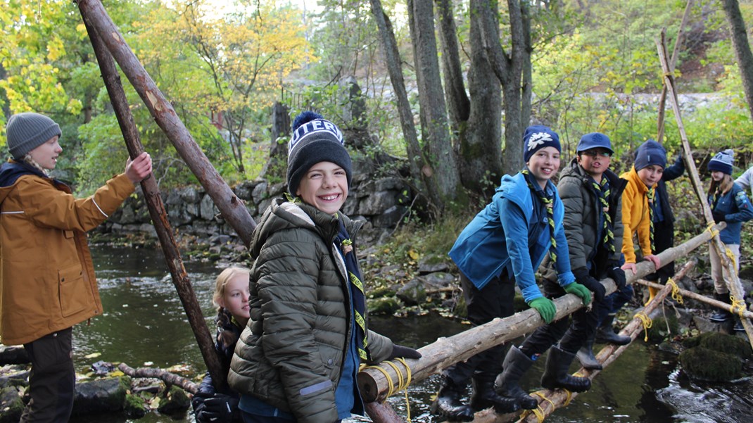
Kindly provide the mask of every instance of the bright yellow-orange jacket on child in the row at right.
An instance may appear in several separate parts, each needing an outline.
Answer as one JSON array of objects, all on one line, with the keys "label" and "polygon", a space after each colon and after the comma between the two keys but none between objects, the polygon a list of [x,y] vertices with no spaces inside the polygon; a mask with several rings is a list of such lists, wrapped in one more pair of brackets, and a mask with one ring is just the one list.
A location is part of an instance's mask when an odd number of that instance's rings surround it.
[{"label": "bright yellow-orange jacket on child in the row at right", "polygon": [[[633,244],[633,234],[638,232],[638,244],[645,256],[651,252],[651,220],[648,210],[648,187],[641,181],[636,168],[630,169],[620,175],[627,181],[625,190],[622,192],[622,224],[625,227],[622,233],[622,254],[625,254],[625,263],[636,263],[636,248]],[[656,188],[654,184],[651,189]]]}]

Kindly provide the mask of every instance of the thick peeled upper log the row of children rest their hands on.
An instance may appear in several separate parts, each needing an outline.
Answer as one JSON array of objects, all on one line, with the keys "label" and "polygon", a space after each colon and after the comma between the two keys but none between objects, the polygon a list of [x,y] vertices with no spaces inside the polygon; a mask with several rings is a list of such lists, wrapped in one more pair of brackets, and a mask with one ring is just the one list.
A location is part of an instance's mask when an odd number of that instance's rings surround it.
[{"label": "thick peeled upper log the row of children rest their hands on", "polygon": [[[720,224],[719,227],[724,226]],[[669,248],[657,255],[661,263],[669,263],[679,257],[687,256],[690,251],[703,245],[711,237],[711,231],[706,230],[687,242],[674,248]],[[626,278],[628,282],[632,282],[636,278],[648,275],[655,270],[656,268],[653,263],[643,261],[636,265],[635,274],[630,271],[626,272]],[[610,278],[605,278],[601,282],[605,286],[607,294],[615,291],[616,286]],[[583,306],[580,298],[573,294],[566,294],[557,298],[554,300],[554,304],[557,309],[555,319],[570,315]],[[541,319],[538,312],[534,309],[528,309],[511,315],[508,318],[497,318],[489,323],[472,327],[454,336],[437,339],[437,341],[419,348],[422,358],[406,360],[406,363],[410,367],[411,380],[418,382],[426,379],[428,376],[438,373],[459,361],[468,360],[473,355],[485,351],[492,346],[504,344],[518,336],[531,333],[542,324],[544,324],[544,320]],[[404,369],[404,366],[400,363],[394,363],[394,367],[389,364],[377,364],[377,366],[384,370],[385,373],[369,367],[358,373],[358,388],[361,391],[361,397],[367,403],[370,401],[383,402],[390,394],[394,394],[394,392],[389,392],[389,381],[386,375],[389,375],[389,378],[394,381],[392,385],[395,386],[398,385],[398,380],[401,377],[407,377],[407,374],[398,376],[395,369],[401,372]],[[407,370],[405,373],[407,373]]]}]

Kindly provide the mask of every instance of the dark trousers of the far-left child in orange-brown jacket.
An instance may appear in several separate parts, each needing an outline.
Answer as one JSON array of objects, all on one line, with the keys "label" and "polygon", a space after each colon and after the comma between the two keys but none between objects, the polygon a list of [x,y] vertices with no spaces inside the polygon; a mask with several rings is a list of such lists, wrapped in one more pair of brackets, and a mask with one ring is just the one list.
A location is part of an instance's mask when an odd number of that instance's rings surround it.
[{"label": "dark trousers of the far-left child in orange-brown jacket", "polygon": [[31,400],[21,423],[68,421],[73,409],[76,373],[73,368],[73,330],[60,330],[23,344],[32,370],[29,372]]}]

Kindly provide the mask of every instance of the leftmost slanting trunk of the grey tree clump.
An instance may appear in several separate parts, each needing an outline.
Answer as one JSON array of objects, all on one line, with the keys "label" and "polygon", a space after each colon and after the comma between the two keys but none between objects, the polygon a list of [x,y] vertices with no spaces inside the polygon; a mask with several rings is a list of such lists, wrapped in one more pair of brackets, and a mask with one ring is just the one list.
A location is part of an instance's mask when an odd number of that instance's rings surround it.
[{"label": "leftmost slanting trunk of the grey tree clump", "polygon": [[405,137],[406,150],[408,154],[408,163],[410,163],[410,173],[418,181],[419,191],[425,193],[430,207],[434,212],[444,208],[444,200],[439,196],[437,189],[437,180],[432,178],[431,167],[425,160],[419,145],[419,138],[416,133],[416,126],[413,124],[413,111],[410,109],[403,71],[401,68],[400,53],[398,52],[398,42],[395,41],[395,32],[392,30],[392,23],[389,17],[384,13],[382,2],[380,0],[370,0],[371,13],[377,22],[380,41],[384,50],[387,62],[387,72],[389,81],[392,83],[392,90],[395,90],[395,99],[400,115],[400,124]]}]

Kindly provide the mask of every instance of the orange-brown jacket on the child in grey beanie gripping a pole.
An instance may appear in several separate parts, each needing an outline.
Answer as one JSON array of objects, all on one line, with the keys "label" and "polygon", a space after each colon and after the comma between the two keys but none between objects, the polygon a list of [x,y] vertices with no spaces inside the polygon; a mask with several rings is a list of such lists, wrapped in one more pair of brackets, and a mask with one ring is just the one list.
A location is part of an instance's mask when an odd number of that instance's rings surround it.
[{"label": "orange-brown jacket on the child in grey beanie gripping a pole", "polygon": [[41,175],[0,187],[0,342],[32,342],[102,314],[86,231],[133,190],[125,174],[85,199]]}]

